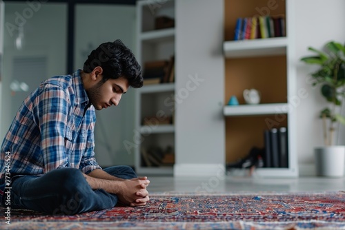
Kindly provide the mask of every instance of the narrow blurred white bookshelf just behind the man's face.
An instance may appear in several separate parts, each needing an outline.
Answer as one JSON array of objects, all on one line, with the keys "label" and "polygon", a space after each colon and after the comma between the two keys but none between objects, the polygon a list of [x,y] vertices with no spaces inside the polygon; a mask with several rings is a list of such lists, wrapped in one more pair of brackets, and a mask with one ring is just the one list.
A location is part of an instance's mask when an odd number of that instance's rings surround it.
[{"label": "narrow blurred white bookshelf just behind the man's face", "polygon": [[[146,71],[146,63],[169,61],[171,56],[175,55],[175,27],[168,25],[157,28],[158,17],[175,19],[175,1],[137,1],[137,59],[143,73]],[[157,165],[157,161],[152,160],[152,157],[156,160],[163,159],[168,154],[166,149],[175,149],[174,93],[173,81],[146,84],[145,74],[144,86],[136,90],[137,174],[173,173],[173,163],[158,162]]]}]

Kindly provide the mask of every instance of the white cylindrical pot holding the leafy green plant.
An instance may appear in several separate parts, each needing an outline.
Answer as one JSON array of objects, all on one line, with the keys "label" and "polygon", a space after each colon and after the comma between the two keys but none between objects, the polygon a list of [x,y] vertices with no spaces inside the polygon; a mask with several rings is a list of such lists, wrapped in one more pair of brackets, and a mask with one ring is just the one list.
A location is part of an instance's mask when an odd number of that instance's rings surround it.
[{"label": "white cylindrical pot holding the leafy green plant", "polygon": [[344,176],[345,146],[315,148],[315,167],[317,176]]}]

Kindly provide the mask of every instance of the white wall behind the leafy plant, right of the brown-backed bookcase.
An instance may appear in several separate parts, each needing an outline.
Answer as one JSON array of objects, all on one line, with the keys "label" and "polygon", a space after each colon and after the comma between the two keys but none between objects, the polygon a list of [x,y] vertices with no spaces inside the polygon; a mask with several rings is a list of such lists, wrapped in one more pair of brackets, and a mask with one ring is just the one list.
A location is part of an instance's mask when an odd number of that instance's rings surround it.
[{"label": "white wall behind the leafy plant, right of the brown-backed bookcase", "polygon": [[[303,99],[297,107],[297,156],[301,174],[303,166],[314,161],[313,149],[323,145],[322,123],[318,118],[319,111],[326,107],[319,87],[313,88],[306,83],[308,74],[317,67],[305,65],[299,59],[311,55],[308,46],[321,49],[327,41],[345,42],[345,1],[344,0],[299,0],[295,2],[295,54],[297,67],[297,90],[304,88],[308,98]],[[344,126],[339,145],[345,145]]]}]

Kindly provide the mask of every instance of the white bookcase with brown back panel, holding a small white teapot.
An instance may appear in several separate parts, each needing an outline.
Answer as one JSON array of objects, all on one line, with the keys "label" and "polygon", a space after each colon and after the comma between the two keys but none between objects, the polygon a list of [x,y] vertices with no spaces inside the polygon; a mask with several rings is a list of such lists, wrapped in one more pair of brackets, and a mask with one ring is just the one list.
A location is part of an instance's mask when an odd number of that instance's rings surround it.
[{"label": "white bookcase with brown back panel, holding a small white teapot", "polygon": [[[226,120],[226,162],[244,158],[252,147],[265,147],[264,130],[288,129],[288,167],[262,167],[255,176],[298,176],[295,134],[295,68],[293,67],[293,1],[268,5],[262,0],[225,0],[225,97],[223,115]],[[263,14],[263,12],[265,14]],[[286,36],[234,41],[238,18],[268,15],[284,17]],[[261,94],[257,105],[246,104],[245,89],[254,88]],[[227,105],[236,96],[239,105]],[[298,98],[297,98],[298,99]]]}]

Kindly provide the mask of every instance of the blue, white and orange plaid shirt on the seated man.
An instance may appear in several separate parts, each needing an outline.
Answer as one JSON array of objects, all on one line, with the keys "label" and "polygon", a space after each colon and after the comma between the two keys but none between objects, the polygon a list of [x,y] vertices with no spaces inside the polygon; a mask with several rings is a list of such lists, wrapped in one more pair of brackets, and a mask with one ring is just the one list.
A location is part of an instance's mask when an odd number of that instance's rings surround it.
[{"label": "blue, white and orange plaid shirt on the seated man", "polygon": [[85,174],[101,169],[93,151],[95,107],[89,106],[80,70],[43,81],[23,101],[1,146],[0,199],[8,166],[11,178],[63,167]]}]

